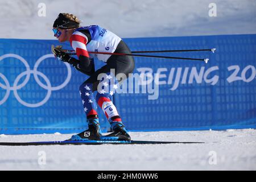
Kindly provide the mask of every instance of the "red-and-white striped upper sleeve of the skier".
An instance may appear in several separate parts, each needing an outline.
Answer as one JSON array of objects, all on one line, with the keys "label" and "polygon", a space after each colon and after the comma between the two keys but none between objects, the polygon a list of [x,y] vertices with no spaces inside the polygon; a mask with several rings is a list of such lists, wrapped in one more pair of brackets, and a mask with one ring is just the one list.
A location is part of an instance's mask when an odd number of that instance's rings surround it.
[{"label": "red-and-white striped upper sleeve of the skier", "polygon": [[69,39],[72,48],[76,51],[76,55],[79,58],[80,55],[89,57],[89,53],[86,49],[86,43],[88,38],[79,31],[74,32]]}]

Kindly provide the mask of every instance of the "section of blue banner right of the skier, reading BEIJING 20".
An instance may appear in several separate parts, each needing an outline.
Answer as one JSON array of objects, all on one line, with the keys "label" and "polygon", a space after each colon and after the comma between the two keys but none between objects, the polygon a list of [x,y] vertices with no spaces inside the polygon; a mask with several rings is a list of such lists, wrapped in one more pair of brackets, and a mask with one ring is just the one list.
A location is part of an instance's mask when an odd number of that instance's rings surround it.
[{"label": "section of blue banner right of the skier, reading BEIJING 20", "polygon": [[[214,53],[160,54],[209,58],[208,64],[137,57],[135,73],[146,80],[142,81],[141,87],[145,84],[154,88],[155,85],[156,89],[147,90],[147,94],[115,94],[115,104],[129,129],[256,127],[256,35],[141,38],[126,39],[126,42],[132,50],[138,51],[216,48]],[[147,73],[152,76],[146,76]],[[154,79],[157,78],[154,75],[159,79]]]}]

